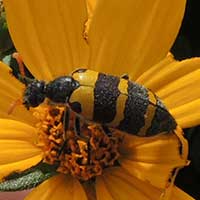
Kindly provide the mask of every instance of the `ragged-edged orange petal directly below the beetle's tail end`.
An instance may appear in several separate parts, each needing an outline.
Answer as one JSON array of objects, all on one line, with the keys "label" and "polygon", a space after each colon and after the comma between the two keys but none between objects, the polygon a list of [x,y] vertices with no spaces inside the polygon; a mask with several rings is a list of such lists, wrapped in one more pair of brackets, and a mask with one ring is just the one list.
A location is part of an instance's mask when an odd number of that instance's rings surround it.
[{"label": "ragged-edged orange petal directly below the beetle's tail end", "polygon": [[121,151],[121,166],[141,180],[166,188],[172,171],[187,164],[187,142],[181,134],[151,138],[127,135]]}]

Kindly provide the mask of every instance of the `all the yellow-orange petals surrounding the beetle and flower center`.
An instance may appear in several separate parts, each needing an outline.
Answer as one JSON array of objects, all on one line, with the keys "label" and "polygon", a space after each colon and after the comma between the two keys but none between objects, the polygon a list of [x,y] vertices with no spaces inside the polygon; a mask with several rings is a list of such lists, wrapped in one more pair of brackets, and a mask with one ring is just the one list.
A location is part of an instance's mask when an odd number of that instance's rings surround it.
[{"label": "all the yellow-orange petals surrounding the beetle and flower center", "polygon": [[[10,33],[28,69],[52,80],[87,67],[131,79],[154,91],[182,128],[200,122],[200,59],[175,61],[167,53],[184,13],[184,0],[4,0]],[[29,169],[43,157],[35,111],[11,104],[24,86],[0,64],[0,179]],[[181,148],[181,149],[180,149]],[[181,150],[181,151],[180,151]],[[71,175],[50,178],[26,199],[192,200],[173,186],[187,164],[180,129],[150,138],[125,135],[120,166],[95,181]]]}]

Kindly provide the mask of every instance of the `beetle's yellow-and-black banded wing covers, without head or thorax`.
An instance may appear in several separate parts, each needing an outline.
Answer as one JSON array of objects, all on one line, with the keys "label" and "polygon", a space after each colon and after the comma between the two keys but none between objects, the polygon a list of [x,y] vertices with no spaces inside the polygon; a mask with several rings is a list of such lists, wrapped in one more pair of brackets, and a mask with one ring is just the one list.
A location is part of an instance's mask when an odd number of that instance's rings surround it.
[{"label": "beetle's yellow-and-black banded wing covers, without head or thorax", "polygon": [[163,103],[145,87],[91,70],[78,70],[72,76],[80,87],[72,93],[70,104],[86,119],[140,136],[176,128]]}]

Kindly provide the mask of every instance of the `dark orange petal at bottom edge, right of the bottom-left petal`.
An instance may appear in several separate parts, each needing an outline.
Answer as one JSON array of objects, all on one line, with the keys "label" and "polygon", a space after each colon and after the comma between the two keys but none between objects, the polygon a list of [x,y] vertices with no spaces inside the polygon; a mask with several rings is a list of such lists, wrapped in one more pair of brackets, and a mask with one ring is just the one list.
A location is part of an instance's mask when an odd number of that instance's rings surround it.
[{"label": "dark orange petal at bottom edge, right of the bottom-left petal", "polygon": [[98,200],[105,199],[103,191],[106,191],[106,197],[113,200],[133,197],[137,200],[156,200],[164,190],[131,176],[122,168],[110,168],[103,176],[97,177],[96,191]]}]

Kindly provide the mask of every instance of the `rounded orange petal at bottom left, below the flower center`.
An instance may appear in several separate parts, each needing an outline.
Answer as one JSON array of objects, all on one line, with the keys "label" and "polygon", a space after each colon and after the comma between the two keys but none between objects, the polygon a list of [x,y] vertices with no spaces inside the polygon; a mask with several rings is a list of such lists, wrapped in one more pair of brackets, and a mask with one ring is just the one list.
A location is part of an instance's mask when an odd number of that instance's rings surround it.
[{"label": "rounded orange petal at bottom left, below the flower center", "polygon": [[81,184],[71,176],[58,175],[35,188],[25,200],[87,200]]}]

